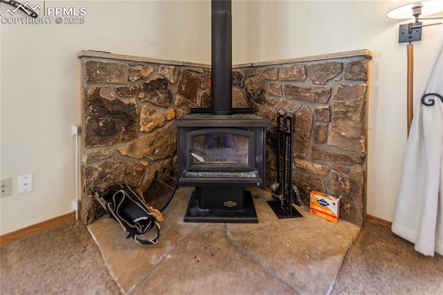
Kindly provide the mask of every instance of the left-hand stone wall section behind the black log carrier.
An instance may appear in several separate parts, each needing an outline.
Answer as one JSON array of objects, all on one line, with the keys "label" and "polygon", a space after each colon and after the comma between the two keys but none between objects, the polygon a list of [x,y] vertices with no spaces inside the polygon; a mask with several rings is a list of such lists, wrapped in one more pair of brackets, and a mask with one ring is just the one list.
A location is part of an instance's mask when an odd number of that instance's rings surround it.
[{"label": "left-hand stone wall section behind the black log carrier", "polygon": [[94,186],[143,193],[156,170],[176,170],[172,120],[199,107],[207,90],[204,69],[192,66],[83,57],[82,78],[82,220],[90,224],[104,213]]}]

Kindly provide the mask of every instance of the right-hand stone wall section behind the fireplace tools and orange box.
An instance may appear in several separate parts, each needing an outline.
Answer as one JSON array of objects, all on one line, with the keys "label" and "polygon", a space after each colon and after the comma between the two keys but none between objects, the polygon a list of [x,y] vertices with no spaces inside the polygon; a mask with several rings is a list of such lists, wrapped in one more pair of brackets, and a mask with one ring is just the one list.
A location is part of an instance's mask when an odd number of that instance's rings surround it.
[{"label": "right-hand stone wall section behind the fireplace tools and orange box", "polygon": [[318,190],[341,199],[341,218],[365,219],[368,57],[244,70],[244,91],[267,130],[266,184],[275,181],[275,113],[295,114],[293,181],[302,202]]}]

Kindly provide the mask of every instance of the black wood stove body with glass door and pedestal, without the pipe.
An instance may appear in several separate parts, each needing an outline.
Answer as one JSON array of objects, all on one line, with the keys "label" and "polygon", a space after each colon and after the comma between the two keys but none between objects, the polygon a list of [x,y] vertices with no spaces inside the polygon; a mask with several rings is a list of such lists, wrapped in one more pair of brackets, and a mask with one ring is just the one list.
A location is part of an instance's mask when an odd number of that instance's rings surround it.
[{"label": "black wood stove body with glass door and pedestal, without the pipe", "polygon": [[251,193],[263,187],[266,127],[251,112],[213,115],[192,112],[178,127],[179,184],[195,186],[186,222],[258,222]]}]

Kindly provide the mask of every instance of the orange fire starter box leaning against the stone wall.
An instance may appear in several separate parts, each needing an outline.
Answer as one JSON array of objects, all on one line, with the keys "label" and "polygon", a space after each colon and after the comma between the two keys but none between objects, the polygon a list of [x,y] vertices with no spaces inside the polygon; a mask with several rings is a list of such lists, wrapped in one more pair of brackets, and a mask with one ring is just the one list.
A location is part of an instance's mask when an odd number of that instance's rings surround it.
[{"label": "orange fire starter box leaning against the stone wall", "polygon": [[309,198],[309,211],[311,214],[337,223],[340,218],[340,199],[312,190]]}]

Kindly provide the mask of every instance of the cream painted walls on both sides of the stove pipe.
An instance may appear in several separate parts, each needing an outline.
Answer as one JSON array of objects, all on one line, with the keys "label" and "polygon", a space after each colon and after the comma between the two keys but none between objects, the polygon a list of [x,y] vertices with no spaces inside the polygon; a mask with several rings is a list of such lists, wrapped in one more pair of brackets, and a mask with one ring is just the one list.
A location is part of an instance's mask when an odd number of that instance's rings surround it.
[{"label": "cream painted walls on both sides of the stove pipe", "polygon": [[[398,43],[402,22],[385,17],[399,3],[408,1],[233,2],[234,64],[372,51],[368,214],[385,220],[395,210],[406,144],[406,44]],[[46,1],[46,7],[86,7],[86,23],[0,25],[1,179],[12,177],[12,196],[0,199],[1,234],[71,211],[78,51],[210,63],[208,1]],[[415,42],[415,98],[437,30],[424,28]],[[17,194],[17,177],[28,173],[33,191]]]}]

